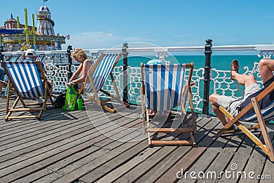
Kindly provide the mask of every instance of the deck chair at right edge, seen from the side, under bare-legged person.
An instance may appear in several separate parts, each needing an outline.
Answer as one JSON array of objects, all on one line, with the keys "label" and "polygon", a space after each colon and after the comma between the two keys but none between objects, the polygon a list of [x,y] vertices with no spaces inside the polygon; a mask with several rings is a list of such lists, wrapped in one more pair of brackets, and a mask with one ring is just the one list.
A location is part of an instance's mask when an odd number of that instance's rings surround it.
[{"label": "deck chair at right edge, seen from the side, under bare-legged person", "polygon": [[[269,132],[266,129],[266,123],[274,119],[274,101],[269,103],[269,106],[266,106],[266,108],[260,109],[260,106],[258,102],[262,100],[266,95],[269,95],[274,90],[274,82],[267,86],[262,93],[260,93],[257,97],[253,97],[250,101],[250,103],[243,108],[235,117],[232,116],[227,110],[225,110],[223,107],[219,107],[221,112],[225,114],[229,118],[229,123],[221,129],[217,135],[221,136],[222,134],[226,133],[233,133],[233,132],[244,132],[249,138],[251,138],[251,141],[256,143],[262,151],[266,155],[269,156],[271,161],[274,161],[274,151],[273,151],[273,145],[271,143],[271,139],[269,137]],[[254,109],[255,112],[252,114],[249,114],[248,116],[245,116],[245,114],[251,110]],[[258,122],[257,125],[253,125],[252,127],[245,127],[245,125],[242,125],[242,122]],[[232,125],[236,124],[239,128],[239,130],[229,130]],[[260,141],[258,137],[256,137],[251,130],[258,130],[261,129],[262,131],[262,137],[264,138],[264,143]]]}]

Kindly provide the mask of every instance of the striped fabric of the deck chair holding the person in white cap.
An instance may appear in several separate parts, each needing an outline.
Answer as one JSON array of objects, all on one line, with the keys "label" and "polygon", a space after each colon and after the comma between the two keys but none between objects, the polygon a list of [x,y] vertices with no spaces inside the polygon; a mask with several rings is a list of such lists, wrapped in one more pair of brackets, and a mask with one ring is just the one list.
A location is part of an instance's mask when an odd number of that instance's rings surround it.
[{"label": "striped fabric of the deck chair holding the person in white cap", "polygon": [[3,64],[21,97],[35,98],[45,95],[35,61],[4,61]]}]

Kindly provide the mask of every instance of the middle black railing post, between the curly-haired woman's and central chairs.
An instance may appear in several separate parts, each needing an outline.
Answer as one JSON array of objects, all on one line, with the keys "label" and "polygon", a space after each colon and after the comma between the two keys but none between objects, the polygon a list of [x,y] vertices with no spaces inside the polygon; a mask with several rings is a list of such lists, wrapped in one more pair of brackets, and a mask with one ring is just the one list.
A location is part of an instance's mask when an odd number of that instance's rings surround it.
[{"label": "middle black railing post, between the curly-haired woman's and central chairs", "polygon": [[127,48],[128,44],[127,42],[123,43],[122,53],[123,53],[123,101],[128,103],[128,97],[127,97]]}]

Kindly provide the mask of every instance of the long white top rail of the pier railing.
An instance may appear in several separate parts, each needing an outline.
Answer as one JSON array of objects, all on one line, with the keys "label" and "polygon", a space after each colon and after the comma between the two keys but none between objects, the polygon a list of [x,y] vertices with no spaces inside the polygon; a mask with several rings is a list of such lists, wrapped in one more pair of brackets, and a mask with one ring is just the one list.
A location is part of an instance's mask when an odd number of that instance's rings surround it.
[{"label": "long white top rail of the pier railing", "polygon": [[[114,49],[84,49],[88,53],[103,53],[108,52],[120,52],[121,48]],[[127,52],[162,52],[162,51],[205,51],[204,46],[197,47],[129,47]],[[212,46],[212,51],[274,51],[274,45],[224,45],[224,46]],[[73,52],[73,50],[71,50]],[[6,51],[2,52],[3,55],[23,54],[24,51]],[[66,53],[66,50],[53,50],[53,51],[37,51],[38,54],[58,54]]]}]

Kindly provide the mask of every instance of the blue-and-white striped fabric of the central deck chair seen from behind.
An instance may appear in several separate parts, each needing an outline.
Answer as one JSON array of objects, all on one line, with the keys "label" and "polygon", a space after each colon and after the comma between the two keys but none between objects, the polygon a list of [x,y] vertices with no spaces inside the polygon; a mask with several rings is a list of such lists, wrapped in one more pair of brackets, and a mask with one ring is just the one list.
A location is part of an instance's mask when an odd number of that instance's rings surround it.
[{"label": "blue-and-white striped fabric of the central deck chair seen from behind", "polygon": [[145,64],[145,104],[160,113],[180,106],[186,64]]}]

